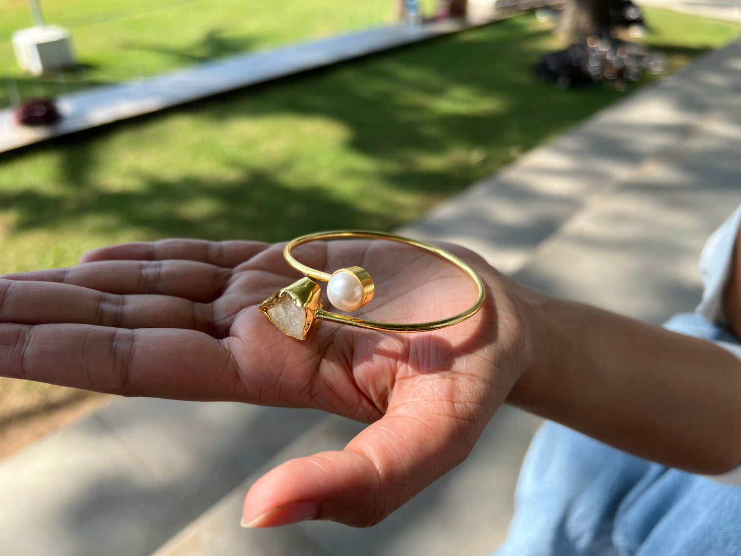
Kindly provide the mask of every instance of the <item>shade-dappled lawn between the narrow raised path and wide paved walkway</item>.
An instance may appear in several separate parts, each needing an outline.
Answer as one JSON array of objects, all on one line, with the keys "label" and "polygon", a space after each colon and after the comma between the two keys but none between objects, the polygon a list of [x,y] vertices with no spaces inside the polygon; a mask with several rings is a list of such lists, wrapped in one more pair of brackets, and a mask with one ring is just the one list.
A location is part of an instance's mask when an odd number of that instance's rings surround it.
[{"label": "shade-dappled lawn between the narrow raised path and wide paved walkway", "polygon": [[[646,12],[674,68],[740,31]],[[556,46],[519,16],[0,156],[0,269],[166,236],[390,230],[623,98],[532,79]]]}]

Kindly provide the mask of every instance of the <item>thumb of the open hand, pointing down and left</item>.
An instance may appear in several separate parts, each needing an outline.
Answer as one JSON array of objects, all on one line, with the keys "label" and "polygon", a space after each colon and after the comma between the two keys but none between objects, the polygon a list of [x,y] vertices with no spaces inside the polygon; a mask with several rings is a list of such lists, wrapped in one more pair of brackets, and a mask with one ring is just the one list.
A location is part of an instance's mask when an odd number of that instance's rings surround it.
[{"label": "thumb of the open hand, pointing down and left", "polygon": [[375,525],[462,462],[491,417],[462,416],[460,406],[445,414],[438,404],[415,405],[415,411],[390,408],[343,451],[300,457],[268,471],[247,492],[242,525],[312,519]]}]

